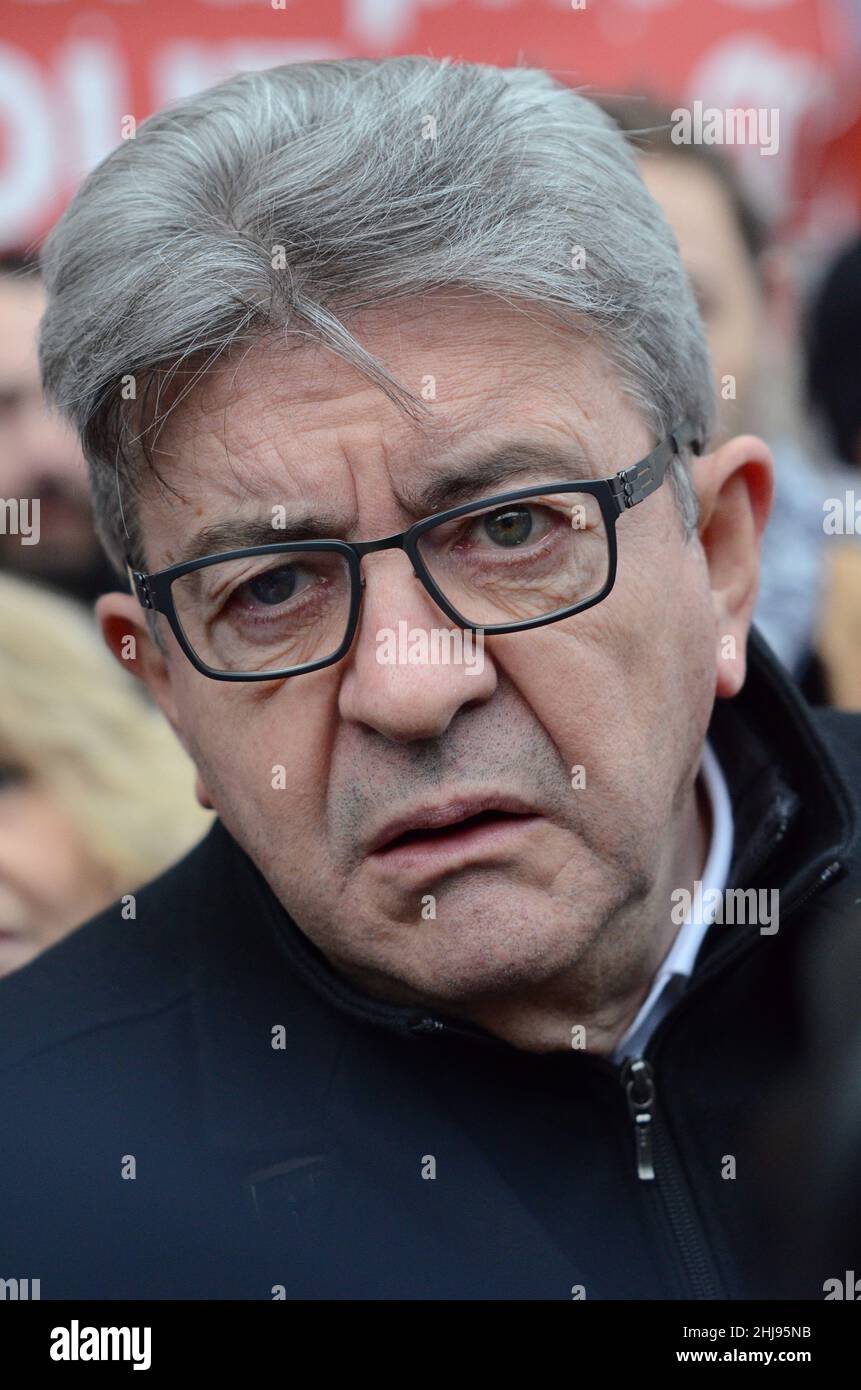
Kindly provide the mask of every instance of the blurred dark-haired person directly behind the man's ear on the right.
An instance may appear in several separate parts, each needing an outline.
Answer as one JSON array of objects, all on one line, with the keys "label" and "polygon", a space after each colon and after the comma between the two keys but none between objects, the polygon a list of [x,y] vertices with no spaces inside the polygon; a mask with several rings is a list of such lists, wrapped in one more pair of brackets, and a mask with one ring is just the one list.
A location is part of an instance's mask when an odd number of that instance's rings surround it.
[{"label": "blurred dark-haired person directly behind the man's ear on the right", "polygon": [[775,503],[762,543],[754,619],[815,702],[825,589],[823,480],[798,445],[789,359],[797,336],[790,272],[726,156],[676,145],[668,108],[643,97],[601,101],[640,152],[643,179],[679,243],[705,324],[718,389],[718,438],[768,439]]}]

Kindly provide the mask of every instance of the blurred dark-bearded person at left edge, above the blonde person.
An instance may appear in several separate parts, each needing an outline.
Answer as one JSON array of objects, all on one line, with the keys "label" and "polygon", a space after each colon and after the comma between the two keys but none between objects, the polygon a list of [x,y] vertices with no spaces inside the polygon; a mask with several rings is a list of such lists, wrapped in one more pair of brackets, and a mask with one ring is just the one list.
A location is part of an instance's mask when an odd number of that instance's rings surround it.
[{"label": "blurred dark-bearded person at left edge, above the blonde person", "polygon": [[[32,574],[85,602],[113,588],[93,530],[81,445],[42,399],[36,334],[45,291],[24,254],[0,256],[0,570]],[[11,510],[7,503],[13,502]],[[33,539],[28,525],[39,503]]]}]

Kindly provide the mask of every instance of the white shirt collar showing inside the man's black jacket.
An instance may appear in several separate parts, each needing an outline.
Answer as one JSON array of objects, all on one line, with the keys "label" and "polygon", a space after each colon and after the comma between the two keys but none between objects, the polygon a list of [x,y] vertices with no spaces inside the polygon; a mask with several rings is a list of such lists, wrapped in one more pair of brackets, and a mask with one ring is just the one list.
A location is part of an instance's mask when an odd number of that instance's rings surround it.
[{"label": "white shirt collar showing inside the man's black jacket", "polygon": [[[729,787],[708,739],[702,746],[700,771],[702,773],[702,784],[711,803],[712,820],[711,844],[705,865],[702,866],[702,894],[700,901],[712,902],[716,899],[708,890],[715,888],[722,894],[729,880],[734,826]],[[679,927],[676,938],[658,969],[637,1017],[616,1044],[612,1054],[613,1062],[620,1062],[625,1056],[638,1056],[643,1052],[658,1023],[691,974],[705,933],[714,920],[714,909],[698,912],[697,906],[698,903],[694,898],[691,910]],[[673,981],[675,988],[668,991],[670,981]]]}]

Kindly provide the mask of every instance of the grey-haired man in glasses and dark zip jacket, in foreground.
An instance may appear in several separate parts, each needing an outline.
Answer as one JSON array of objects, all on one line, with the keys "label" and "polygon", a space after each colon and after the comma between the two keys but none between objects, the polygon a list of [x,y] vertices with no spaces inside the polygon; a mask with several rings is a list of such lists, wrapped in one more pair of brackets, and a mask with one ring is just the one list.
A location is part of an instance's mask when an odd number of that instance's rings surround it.
[{"label": "grey-haired man in glasses and dark zip jacket, in foreground", "polygon": [[750,630],[769,453],[709,446],[623,138],[529,70],[245,74],[45,264],[99,617],[218,820],[0,987],[3,1248],[43,1297],[768,1295],[858,726]]}]

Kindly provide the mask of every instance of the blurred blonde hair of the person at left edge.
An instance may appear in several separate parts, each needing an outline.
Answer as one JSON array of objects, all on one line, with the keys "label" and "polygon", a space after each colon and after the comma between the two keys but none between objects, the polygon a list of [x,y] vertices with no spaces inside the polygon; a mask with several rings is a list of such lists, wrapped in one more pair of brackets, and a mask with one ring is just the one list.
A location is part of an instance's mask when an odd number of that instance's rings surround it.
[{"label": "blurred blonde hair of the person at left edge", "polygon": [[0,574],[0,760],[68,813],[93,863],[131,892],[211,823],[195,769],[85,609]]}]

